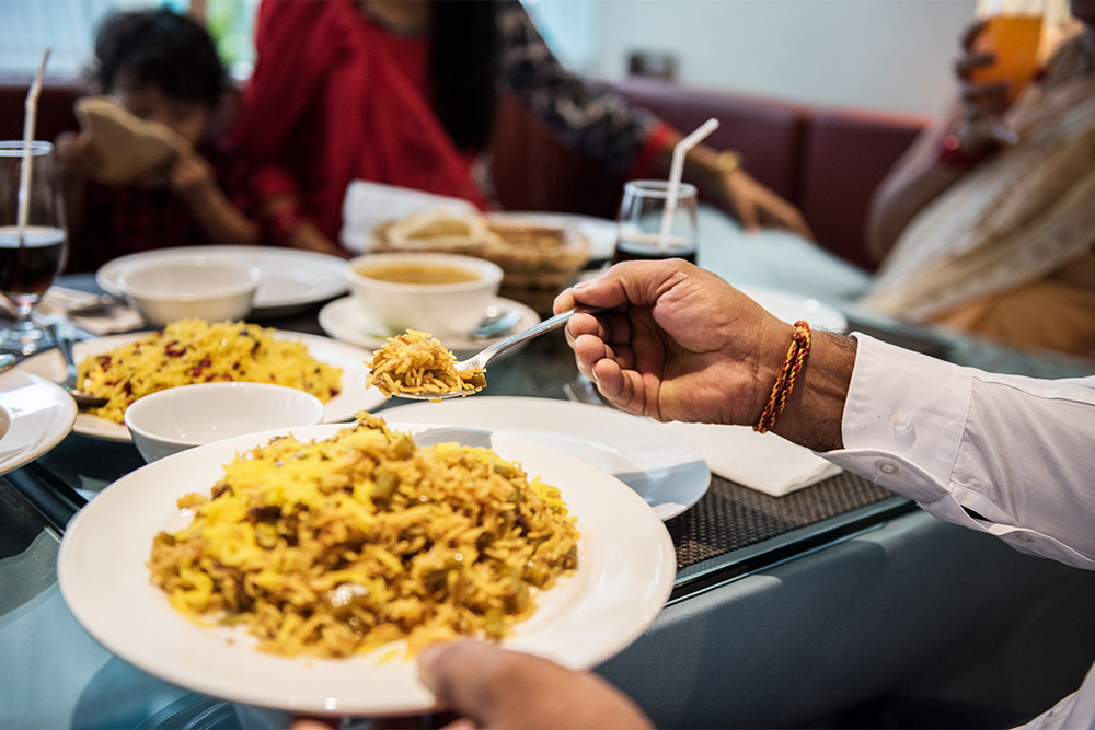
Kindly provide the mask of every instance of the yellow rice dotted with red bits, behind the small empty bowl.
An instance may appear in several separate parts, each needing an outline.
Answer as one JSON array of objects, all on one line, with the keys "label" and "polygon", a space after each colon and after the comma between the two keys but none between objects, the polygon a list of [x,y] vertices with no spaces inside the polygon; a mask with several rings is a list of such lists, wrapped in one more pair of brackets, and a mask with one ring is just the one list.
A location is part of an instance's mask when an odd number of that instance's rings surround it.
[{"label": "yellow rice dotted with red bits, behind the small empty bowl", "polygon": [[176,385],[216,381],[277,383],[323,402],[338,395],[342,369],[318,361],[299,341],[245,322],[180,320],[79,364],[80,387],[110,401],[91,413],[123,422],[137,398]]}]

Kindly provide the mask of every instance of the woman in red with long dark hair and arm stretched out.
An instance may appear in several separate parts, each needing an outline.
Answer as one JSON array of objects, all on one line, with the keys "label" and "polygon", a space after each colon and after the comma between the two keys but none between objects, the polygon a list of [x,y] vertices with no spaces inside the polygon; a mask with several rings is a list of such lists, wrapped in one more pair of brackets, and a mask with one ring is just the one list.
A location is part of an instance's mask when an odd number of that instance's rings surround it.
[{"label": "woman in red with long dark hair and arm stretched out", "polygon": [[[354,179],[488,202],[480,153],[496,91],[514,92],[565,142],[629,176],[668,171],[680,136],[555,59],[517,0],[263,2],[257,60],[233,130],[250,210],[266,240],[326,252]],[[745,171],[698,147],[685,179],[749,227],[809,231]]]}]

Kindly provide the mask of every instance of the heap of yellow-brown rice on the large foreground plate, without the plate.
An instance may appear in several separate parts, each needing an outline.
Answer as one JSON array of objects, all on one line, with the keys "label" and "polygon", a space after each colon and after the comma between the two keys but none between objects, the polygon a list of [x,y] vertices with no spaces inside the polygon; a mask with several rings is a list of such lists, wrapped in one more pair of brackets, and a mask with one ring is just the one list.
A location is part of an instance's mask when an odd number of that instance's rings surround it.
[{"label": "heap of yellow-brown rice on the large foreground plate, without the plate", "polygon": [[556,488],[488,449],[417,447],[369,414],[325,441],[278,437],[224,467],[149,570],[198,622],[262,650],[347,657],[405,639],[499,638],[577,565]]}]

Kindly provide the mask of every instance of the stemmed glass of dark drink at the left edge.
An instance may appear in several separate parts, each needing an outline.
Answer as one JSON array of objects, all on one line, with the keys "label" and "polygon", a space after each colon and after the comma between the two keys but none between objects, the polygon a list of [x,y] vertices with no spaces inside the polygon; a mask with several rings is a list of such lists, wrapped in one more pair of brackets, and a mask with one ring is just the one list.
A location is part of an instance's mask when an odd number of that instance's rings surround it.
[{"label": "stemmed glass of dark drink at the left edge", "polygon": [[[21,200],[27,161],[26,199]],[[0,293],[16,311],[15,322],[0,336],[0,350],[31,355],[49,346],[31,313],[65,265],[67,240],[53,146],[32,142],[24,149],[23,142],[0,141]]]}]

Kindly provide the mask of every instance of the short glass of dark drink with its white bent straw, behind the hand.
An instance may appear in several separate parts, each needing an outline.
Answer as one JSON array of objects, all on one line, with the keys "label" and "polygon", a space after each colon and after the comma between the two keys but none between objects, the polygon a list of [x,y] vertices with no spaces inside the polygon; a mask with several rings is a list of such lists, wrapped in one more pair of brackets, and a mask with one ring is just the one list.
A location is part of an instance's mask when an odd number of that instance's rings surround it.
[{"label": "short glass of dark drink with its white bent straw, behind the hand", "polygon": [[708,119],[673,148],[669,179],[636,179],[624,184],[612,263],[634,259],[696,260],[696,189],[681,182],[684,158],[718,128]]}]

